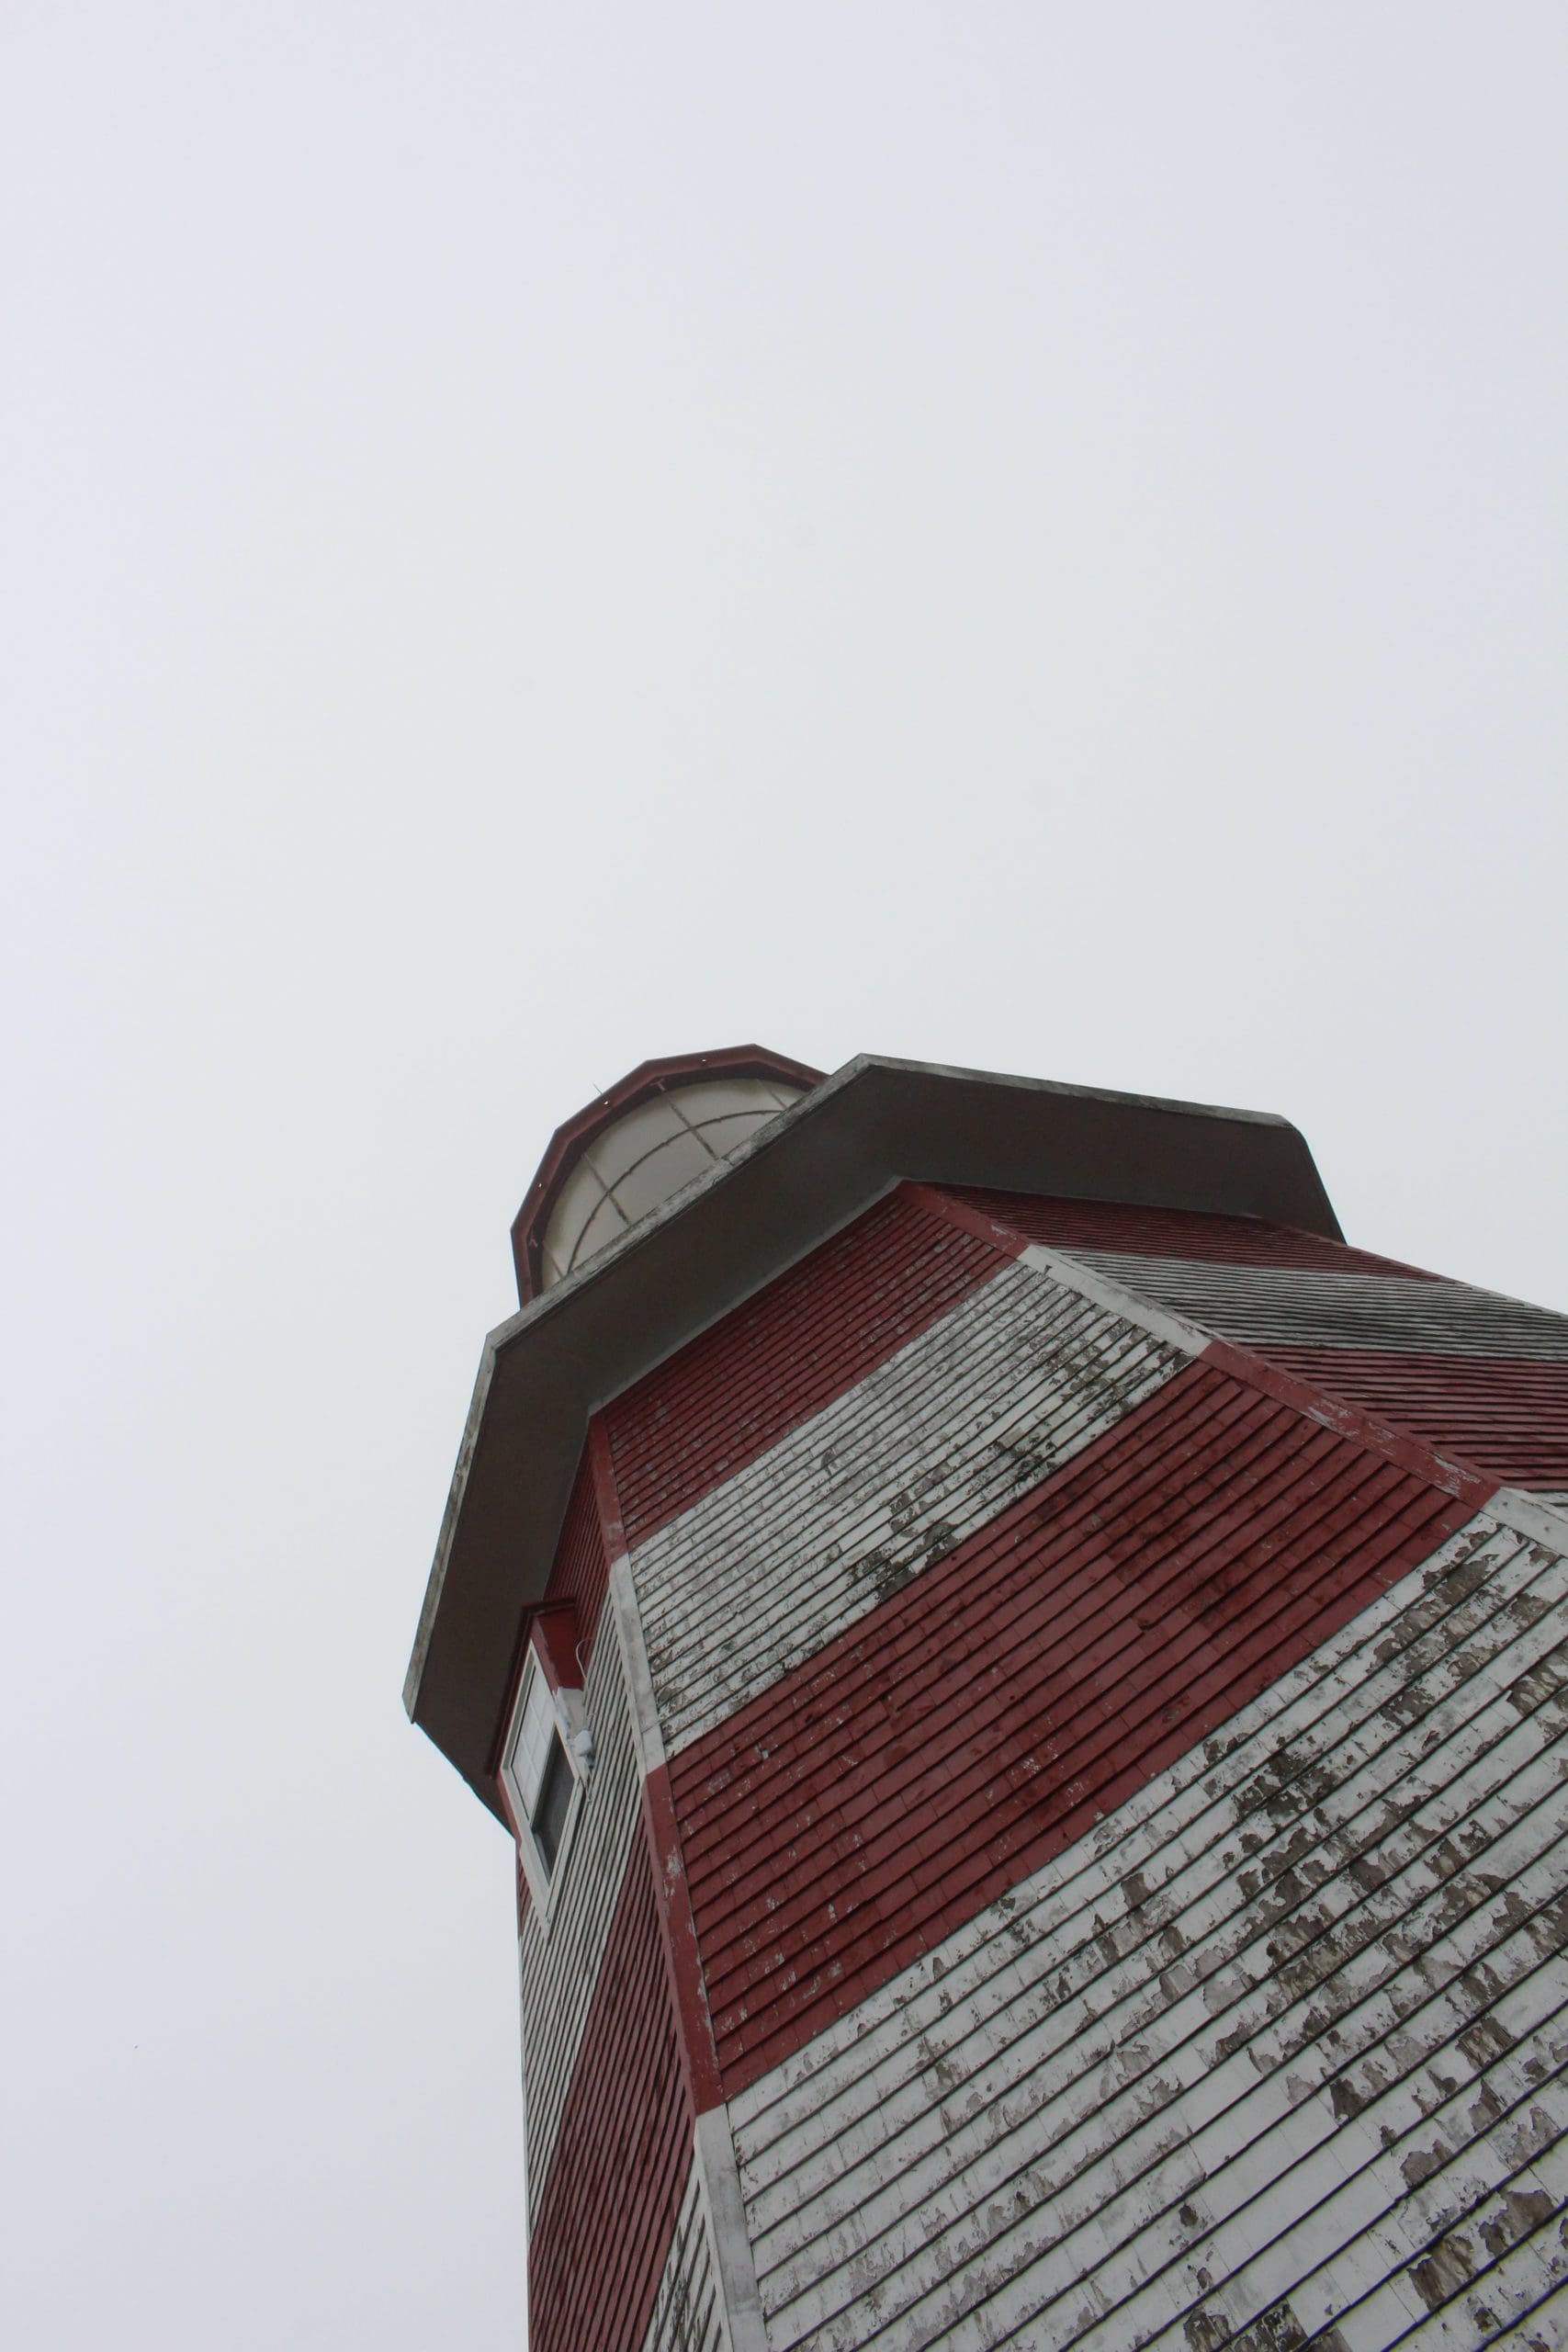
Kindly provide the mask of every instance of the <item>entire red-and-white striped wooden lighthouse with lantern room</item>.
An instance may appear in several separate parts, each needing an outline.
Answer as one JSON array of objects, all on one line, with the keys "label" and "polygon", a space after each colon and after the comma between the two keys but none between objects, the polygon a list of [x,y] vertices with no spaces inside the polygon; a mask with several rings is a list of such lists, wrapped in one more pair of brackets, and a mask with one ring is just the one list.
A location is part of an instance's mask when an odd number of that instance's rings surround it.
[{"label": "entire red-and-white striped wooden lighthouse with lantern room", "polygon": [[755,1047],[512,1242],[407,1698],[534,2352],[1568,2343],[1568,1319],[1284,1120]]}]

